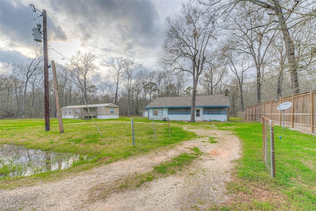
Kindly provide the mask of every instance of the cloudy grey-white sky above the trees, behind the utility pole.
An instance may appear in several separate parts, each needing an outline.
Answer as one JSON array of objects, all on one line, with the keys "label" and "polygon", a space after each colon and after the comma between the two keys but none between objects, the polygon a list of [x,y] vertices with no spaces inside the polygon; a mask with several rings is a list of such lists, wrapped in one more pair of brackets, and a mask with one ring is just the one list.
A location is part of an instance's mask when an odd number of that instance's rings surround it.
[{"label": "cloudy grey-white sky above the trees, behind the utility pole", "polygon": [[[181,0],[0,0],[0,63],[32,58],[32,35],[47,13],[48,60],[64,64],[77,51],[96,55],[100,70],[110,57],[126,57],[157,67],[167,16],[181,10]],[[39,11],[33,12],[30,4]],[[42,29],[42,27],[41,27]],[[57,52],[58,53],[57,53]]]}]

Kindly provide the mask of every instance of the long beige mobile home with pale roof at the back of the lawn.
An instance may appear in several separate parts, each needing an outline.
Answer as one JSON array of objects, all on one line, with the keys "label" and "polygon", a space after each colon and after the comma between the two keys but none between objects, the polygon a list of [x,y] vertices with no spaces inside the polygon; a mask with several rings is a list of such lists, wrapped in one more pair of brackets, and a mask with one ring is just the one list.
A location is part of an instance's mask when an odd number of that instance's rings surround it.
[{"label": "long beige mobile home with pale roof at the back of the lawn", "polygon": [[[114,119],[118,118],[118,106],[115,104],[91,104],[87,105],[90,113],[97,119]],[[61,108],[62,117],[68,119],[91,117],[86,105],[66,106]]]}]

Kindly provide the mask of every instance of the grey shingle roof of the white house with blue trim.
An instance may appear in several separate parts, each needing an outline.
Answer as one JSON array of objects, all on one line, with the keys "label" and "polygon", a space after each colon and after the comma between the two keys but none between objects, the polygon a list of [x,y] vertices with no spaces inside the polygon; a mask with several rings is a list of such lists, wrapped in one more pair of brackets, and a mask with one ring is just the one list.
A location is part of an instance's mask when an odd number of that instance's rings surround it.
[{"label": "grey shingle roof of the white house with blue trim", "polygon": [[[146,108],[153,107],[191,107],[192,96],[156,98]],[[196,97],[196,106],[230,107],[229,97],[224,95],[201,95]]]}]

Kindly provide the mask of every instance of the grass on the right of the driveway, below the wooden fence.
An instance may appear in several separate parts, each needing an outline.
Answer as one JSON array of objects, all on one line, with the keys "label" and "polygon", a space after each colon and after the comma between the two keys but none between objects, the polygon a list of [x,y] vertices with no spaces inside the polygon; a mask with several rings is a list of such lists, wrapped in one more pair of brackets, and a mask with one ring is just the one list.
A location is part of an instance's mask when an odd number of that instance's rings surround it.
[{"label": "grass on the right of the driveway, below the wooden fence", "polygon": [[242,157],[227,185],[233,198],[211,210],[315,210],[316,137],[275,126],[276,178],[271,178],[263,162],[262,124],[232,120],[217,127],[242,141]]}]

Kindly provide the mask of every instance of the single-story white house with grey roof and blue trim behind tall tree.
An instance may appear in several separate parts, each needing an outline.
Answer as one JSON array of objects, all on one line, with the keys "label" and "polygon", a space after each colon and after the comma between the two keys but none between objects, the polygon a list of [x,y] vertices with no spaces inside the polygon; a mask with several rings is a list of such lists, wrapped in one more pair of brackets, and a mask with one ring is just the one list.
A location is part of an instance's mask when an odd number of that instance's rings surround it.
[{"label": "single-story white house with grey roof and blue trim behind tall tree", "polygon": [[[149,118],[169,118],[169,120],[191,119],[192,96],[156,98],[145,108]],[[229,97],[224,95],[203,95],[196,97],[196,121],[227,121],[229,119]]]}]

